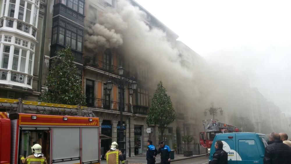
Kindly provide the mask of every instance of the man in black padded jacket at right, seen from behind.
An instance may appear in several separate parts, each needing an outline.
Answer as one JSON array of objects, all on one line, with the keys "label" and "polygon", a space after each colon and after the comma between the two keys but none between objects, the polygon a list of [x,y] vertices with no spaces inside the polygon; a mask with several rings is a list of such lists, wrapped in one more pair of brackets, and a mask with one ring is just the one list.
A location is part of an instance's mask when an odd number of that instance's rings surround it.
[{"label": "man in black padded jacket at right, seen from behind", "polygon": [[269,135],[268,146],[265,148],[264,164],[290,164],[291,148],[283,144],[278,133]]}]

